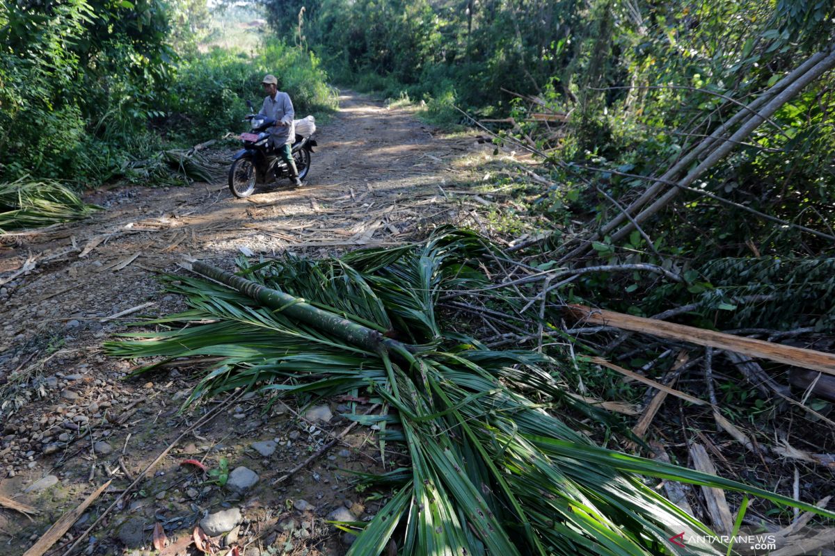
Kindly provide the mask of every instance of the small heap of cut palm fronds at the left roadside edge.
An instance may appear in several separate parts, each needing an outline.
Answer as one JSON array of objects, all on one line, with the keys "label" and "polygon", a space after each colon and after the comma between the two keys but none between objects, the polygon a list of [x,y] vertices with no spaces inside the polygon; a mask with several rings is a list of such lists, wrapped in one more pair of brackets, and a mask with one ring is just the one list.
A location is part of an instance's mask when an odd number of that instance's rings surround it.
[{"label": "small heap of cut palm fronds at the left roadside edge", "polygon": [[24,176],[0,183],[0,233],[81,220],[99,209],[55,181]]}]

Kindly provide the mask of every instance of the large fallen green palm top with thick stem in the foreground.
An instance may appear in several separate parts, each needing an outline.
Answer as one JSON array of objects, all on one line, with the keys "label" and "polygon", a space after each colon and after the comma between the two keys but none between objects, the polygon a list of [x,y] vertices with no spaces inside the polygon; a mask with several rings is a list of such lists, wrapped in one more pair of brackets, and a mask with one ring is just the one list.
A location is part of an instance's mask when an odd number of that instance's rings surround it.
[{"label": "large fallen green palm top with thick stem in the foreground", "polygon": [[[381,477],[395,492],[350,554],[379,554],[390,538],[402,554],[715,552],[698,541],[708,528],[641,476],[835,517],[762,488],[595,446],[580,431],[609,416],[567,395],[552,359],[490,350],[462,323],[440,318],[443,294],[485,291],[478,263],[491,254],[477,236],[453,231],[342,259],[241,260],[239,276],[195,263],[225,285],[170,279],[191,309],[152,322],[168,330],[127,334],[138,339],[105,348],[158,358],[139,372],[175,358],[224,358],[191,400],[261,384],[296,395],[365,389],[387,404],[388,415],[345,417],[379,422],[381,442],[404,443],[411,469]],[[504,303],[498,290],[488,291]],[[682,531],[686,549],[670,541]]]}]

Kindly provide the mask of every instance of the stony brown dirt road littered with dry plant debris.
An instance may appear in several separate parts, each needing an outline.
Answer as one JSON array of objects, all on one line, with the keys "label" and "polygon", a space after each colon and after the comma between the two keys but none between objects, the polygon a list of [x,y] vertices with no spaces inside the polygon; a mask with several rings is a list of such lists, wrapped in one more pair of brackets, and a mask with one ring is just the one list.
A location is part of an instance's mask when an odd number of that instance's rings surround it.
[{"label": "stony brown dirt road littered with dry plant debris", "polygon": [[[193,369],[129,378],[130,364],[100,348],[125,323],[184,307],[161,293],[155,279],[177,270],[184,254],[229,266],[241,252],[316,256],[402,243],[439,223],[473,218],[471,224],[482,225],[472,210],[488,201],[476,203],[468,189],[481,178],[478,160],[492,147],[472,135],[443,137],[407,108],[389,109],[350,92],[340,103],[317,132],[319,148],[302,188],[282,185],[245,200],[232,198],[225,183],[116,188],[90,195],[106,210],[89,220],[3,238],[0,280],[27,260],[34,268],[0,290],[0,495],[40,510],[33,521],[0,510],[8,553],[22,553],[63,512],[114,478],[68,533],[78,535],[128,485],[128,474],[143,470],[195,418],[177,413],[196,382]],[[250,556],[268,543],[342,553],[349,539],[322,519],[338,508],[368,518],[377,505],[366,504],[339,468],[382,469],[378,447],[367,433],[354,433],[283,487],[271,487],[272,478],[342,428],[338,417],[300,418],[296,402],[288,404],[263,413],[259,399],[249,398],[220,412],[119,503],[83,540],[82,552],[135,552],[149,548],[154,523],[175,539],[205,513],[240,508],[237,530],[245,542],[254,540]],[[339,400],[323,406],[333,415],[346,410]],[[267,448],[253,447],[258,441]],[[225,458],[229,469],[248,468],[259,482],[232,492],[178,465],[183,458],[202,459],[221,473]]]}]

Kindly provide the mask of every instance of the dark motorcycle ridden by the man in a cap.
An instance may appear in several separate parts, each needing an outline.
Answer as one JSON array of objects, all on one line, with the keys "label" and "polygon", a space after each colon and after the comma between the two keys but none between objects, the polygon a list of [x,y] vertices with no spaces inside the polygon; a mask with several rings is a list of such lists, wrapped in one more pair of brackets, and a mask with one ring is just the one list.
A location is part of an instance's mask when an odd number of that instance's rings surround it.
[{"label": "dark motorcycle ridden by the man in a cap", "polygon": [[[235,153],[232,166],[229,168],[229,190],[237,198],[249,197],[255,191],[256,185],[266,185],[281,178],[291,177],[287,164],[271,145],[271,133],[266,131],[276,125],[276,120],[254,113],[255,108],[250,101],[246,101],[246,106],[252,112],[244,119],[250,121],[251,133],[240,134],[244,148]],[[294,123],[302,121],[294,120]],[[312,133],[306,137],[296,133],[296,140],[291,148],[301,180],[310,172],[311,153],[316,147],[316,139],[312,136]]]}]

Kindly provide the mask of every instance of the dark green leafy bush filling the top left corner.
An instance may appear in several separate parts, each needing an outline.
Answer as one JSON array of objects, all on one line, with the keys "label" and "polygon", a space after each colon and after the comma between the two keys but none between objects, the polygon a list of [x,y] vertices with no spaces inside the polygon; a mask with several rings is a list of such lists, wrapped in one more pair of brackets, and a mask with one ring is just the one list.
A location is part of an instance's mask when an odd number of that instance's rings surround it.
[{"label": "dark green leafy bush filling the top left corner", "polygon": [[100,183],[163,97],[165,4],[0,4],[0,180]]}]

